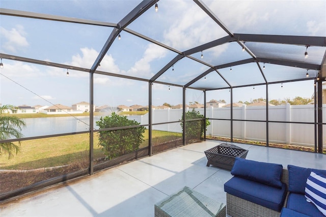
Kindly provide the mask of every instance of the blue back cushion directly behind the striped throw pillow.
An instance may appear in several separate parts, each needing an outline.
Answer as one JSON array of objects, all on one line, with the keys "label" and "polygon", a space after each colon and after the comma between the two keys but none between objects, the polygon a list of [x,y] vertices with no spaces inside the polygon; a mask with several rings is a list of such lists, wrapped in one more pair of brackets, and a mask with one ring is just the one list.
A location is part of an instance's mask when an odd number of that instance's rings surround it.
[{"label": "blue back cushion directly behind the striped throw pillow", "polygon": [[289,192],[303,195],[305,194],[307,178],[311,172],[326,175],[326,170],[303,168],[294,165],[288,165],[287,170],[289,171]]}]

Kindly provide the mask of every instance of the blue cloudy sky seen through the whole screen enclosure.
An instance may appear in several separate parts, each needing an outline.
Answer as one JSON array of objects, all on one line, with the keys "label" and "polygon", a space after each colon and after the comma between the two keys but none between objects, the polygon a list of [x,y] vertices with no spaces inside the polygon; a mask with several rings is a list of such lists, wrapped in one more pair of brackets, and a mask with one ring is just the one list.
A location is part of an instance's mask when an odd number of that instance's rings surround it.
[{"label": "blue cloudy sky seen through the whole screen enclosure", "polygon": [[[203,1],[233,33],[326,36],[325,1]],[[140,1],[15,1],[1,0],[0,7],[6,9],[47,13],[90,20],[119,22]],[[162,0],[158,2],[158,12],[149,9],[128,29],[151,37],[179,51],[185,51],[224,36],[223,31],[193,1]],[[0,15],[0,52],[8,55],[61,63],[76,67],[91,68],[113,28],[104,26],[62,23],[49,20],[11,17]],[[295,45],[260,45],[247,43],[257,50],[266,52],[290,52]],[[265,47],[264,47],[265,46]],[[295,46],[302,58],[306,47]],[[282,48],[283,49],[283,48]],[[309,47],[309,60],[322,61],[325,48]],[[149,43],[127,32],[121,32],[121,40],[116,39],[101,62],[104,72],[149,79],[168,64],[177,53]],[[260,53],[261,56],[265,53]],[[201,52],[192,55],[201,59]],[[203,61],[215,66],[228,62],[248,59],[237,43],[228,43],[203,51]],[[302,61],[307,61],[303,59]],[[87,72],[73,71],[50,66],[29,64],[13,60],[2,60],[0,69],[0,103],[13,105],[71,106],[81,101],[89,102],[89,79]],[[262,63],[260,64],[262,67]],[[265,64],[266,78],[273,82],[289,73],[287,79],[303,78],[306,69],[293,70],[291,67]],[[209,67],[183,58],[160,76],[160,82],[184,85]],[[290,68],[290,69],[289,69]],[[67,71],[69,76],[66,76]],[[221,69],[220,73],[232,85],[263,83],[263,77],[256,64]],[[310,70],[311,76],[318,72]],[[206,78],[206,79],[205,79]],[[227,87],[216,72],[200,79],[193,87]],[[240,78],[240,79],[239,79]],[[100,105],[148,105],[149,84],[138,80],[113,76],[94,75],[94,104]],[[251,101],[266,98],[265,86],[234,89],[233,101]],[[284,99],[301,96],[310,98],[313,94],[313,80],[268,86],[268,99]],[[152,104],[172,105],[182,103],[182,88],[152,85]],[[230,102],[228,89],[207,91],[206,101],[224,99]],[[204,101],[204,93],[186,90],[186,103]]]}]

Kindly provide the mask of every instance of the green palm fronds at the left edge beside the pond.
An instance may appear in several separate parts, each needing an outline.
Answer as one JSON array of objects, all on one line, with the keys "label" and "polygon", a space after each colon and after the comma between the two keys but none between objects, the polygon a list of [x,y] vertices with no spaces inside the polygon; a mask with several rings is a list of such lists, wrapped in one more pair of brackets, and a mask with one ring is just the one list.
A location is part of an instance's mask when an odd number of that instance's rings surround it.
[{"label": "green palm fronds at the left edge beside the pond", "polygon": [[[3,105],[0,106],[0,140],[8,140],[13,138],[21,138],[23,134],[21,133],[22,127],[25,127],[25,122],[15,116],[5,115],[9,110],[16,110],[17,107],[13,105]],[[18,145],[12,142],[0,143],[0,155],[8,154],[8,158],[14,156],[20,151],[20,141]]]}]

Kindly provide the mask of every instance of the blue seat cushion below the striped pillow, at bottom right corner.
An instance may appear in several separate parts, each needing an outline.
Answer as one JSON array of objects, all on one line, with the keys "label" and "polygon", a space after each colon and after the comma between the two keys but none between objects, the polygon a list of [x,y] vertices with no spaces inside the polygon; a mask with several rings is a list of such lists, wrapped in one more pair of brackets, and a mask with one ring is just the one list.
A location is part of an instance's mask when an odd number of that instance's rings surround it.
[{"label": "blue seat cushion below the striped pillow, at bottom right corner", "polygon": [[303,194],[290,193],[286,202],[286,208],[310,216],[324,217],[313,203],[307,202],[306,197]]}]

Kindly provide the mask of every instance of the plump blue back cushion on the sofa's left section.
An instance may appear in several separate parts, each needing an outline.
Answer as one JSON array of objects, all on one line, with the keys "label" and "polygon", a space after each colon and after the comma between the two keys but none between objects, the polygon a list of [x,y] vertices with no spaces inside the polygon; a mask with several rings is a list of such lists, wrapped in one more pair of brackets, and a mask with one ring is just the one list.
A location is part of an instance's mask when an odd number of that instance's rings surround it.
[{"label": "plump blue back cushion on the sofa's left section", "polygon": [[283,166],[236,157],[231,174],[274,187],[282,187]]}]

